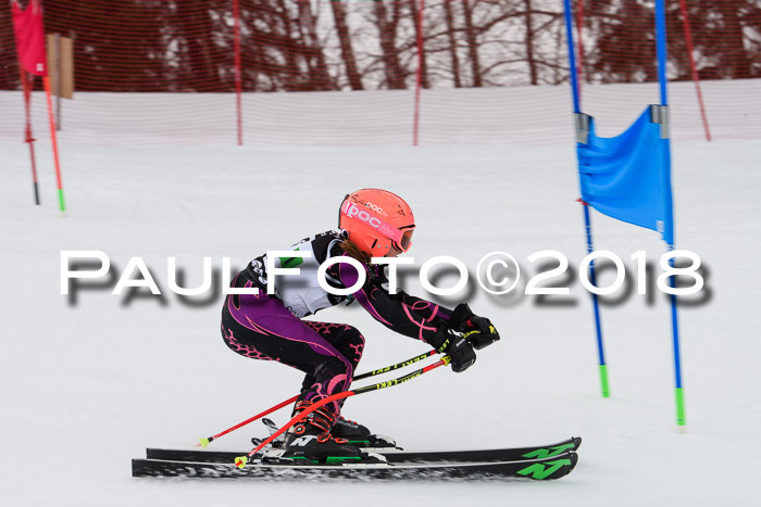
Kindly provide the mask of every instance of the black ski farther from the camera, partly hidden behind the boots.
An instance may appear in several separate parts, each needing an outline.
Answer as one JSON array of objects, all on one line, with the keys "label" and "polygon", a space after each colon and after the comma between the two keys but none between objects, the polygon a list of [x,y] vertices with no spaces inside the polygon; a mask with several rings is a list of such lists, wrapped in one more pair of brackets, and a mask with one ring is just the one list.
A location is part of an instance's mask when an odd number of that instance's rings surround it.
[{"label": "black ski farther from the camera, partly hidden behind the boots", "polygon": [[[400,451],[395,448],[365,448],[366,452],[383,454],[388,462],[437,462],[437,461],[516,461],[520,459],[550,458],[567,451],[576,451],[582,445],[581,436],[573,436],[551,445],[532,447],[508,447],[494,449],[464,451]],[[230,464],[247,452],[227,451],[185,451],[147,448],[148,459],[169,461],[221,462]]]}]

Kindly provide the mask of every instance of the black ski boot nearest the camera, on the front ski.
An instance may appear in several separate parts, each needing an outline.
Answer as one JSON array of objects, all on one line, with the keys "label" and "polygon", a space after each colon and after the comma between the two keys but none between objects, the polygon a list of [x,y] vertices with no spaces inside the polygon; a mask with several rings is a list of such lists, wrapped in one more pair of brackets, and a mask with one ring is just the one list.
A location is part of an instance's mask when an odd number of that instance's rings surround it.
[{"label": "black ski boot nearest the camera, on the front ski", "polygon": [[[294,415],[309,408],[312,402],[298,402]],[[280,460],[303,459],[308,462],[340,462],[366,457],[348,440],[334,438],[330,429],[335,417],[324,408],[317,408],[305,419],[294,424],[286,433],[285,452]]]}]

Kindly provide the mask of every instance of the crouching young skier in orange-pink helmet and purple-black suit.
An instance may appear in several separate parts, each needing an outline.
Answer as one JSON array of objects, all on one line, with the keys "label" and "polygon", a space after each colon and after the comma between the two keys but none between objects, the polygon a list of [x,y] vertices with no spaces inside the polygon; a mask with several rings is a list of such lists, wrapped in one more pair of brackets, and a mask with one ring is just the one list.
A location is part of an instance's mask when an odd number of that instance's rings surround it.
[{"label": "crouching young skier in orange-pink helmet and purple-black suit", "polygon": [[[400,197],[380,189],[358,190],[344,199],[337,230],[305,238],[289,249],[307,256],[272,261],[276,268],[300,269],[296,276],[279,275],[274,294],[266,293],[266,255],[251,261],[230,282],[230,287],[258,288],[259,293],[225,297],[224,341],[240,355],[276,360],[307,375],[294,415],[351,385],[364,347],[362,334],[345,324],[303,320],[347,297],[355,299],[375,320],[392,331],[448,354],[457,372],[475,362],[474,345],[483,348],[499,340],[491,322],[474,315],[466,304],[450,310],[402,291],[388,292],[384,266],[371,264],[371,257],[395,257],[407,252],[414,229],[412,210]],[[317,281],[320,265],[340,256],[359,261],[366,276],[350,296],[330,294]],[[359,277],[358,270],[346,263],[333,264],[325,271],[325,281],[335,289],[353,287]],[[342,401],[324,405],[291,427],[286,433],[283,456],[314,460],[361,456],[348,441],[365,440],[370,430],[340,417],[341,404]]]}]

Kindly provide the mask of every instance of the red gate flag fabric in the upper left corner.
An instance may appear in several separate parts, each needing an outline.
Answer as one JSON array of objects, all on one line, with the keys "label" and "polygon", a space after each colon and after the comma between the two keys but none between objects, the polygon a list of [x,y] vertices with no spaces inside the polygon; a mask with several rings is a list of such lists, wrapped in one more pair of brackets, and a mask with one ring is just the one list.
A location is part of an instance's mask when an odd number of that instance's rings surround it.
[{"label": "red gate flag fabric in the upper left corner", "polygon": [[12,11],[18,61],[29,74],[47,76],[48,65],[45,58],[42,8],[35,0],[26,10],[23,10],[18,2],[14,0]]}]

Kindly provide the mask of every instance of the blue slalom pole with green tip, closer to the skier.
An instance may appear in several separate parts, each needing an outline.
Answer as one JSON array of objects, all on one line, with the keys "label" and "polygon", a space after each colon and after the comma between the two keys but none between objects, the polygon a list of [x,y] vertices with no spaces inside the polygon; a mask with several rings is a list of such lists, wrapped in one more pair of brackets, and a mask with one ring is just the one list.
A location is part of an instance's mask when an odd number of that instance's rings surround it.
[{"label": "blue slalom pole with green tip, closer to the skier", "polygon": [[[563,15],[565,17],[565,37],[569,47],[569,67],[571,74],[571,89],[573,91],[573,112],[579,114],[582,111],[581,100],[578,97],[578,75],[576,74],[576,53],[573,42],[573,23],[571,0],[563,0]],[[589,205],[579,199],[584,207],[584,225],[587,236],[587,253],[595,251],[591,239],[591,220],[589,218]],[[595,262],[589,263],[589,281],[597,287],[597,277],[595,275]],[[600,325],[600,305],[597,301],[597,294],[591,294],[592,307],[595,308],[595,330],[597,332],[597,355],[599,358],[600,372],[600,390],[602,397],[610,397],[610,389],[608,386],[608,365],[606,365],[604,347],[602,346],[602,326]]]}]

